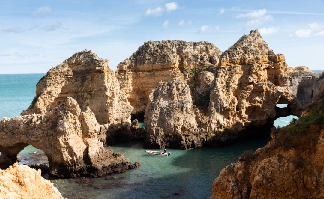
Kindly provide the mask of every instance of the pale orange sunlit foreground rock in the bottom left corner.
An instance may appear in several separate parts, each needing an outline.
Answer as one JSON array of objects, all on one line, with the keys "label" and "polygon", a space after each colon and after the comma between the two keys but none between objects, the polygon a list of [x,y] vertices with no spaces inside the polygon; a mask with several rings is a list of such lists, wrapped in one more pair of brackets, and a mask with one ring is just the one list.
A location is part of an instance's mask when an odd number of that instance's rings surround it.
[{"label": "pale orange sunlit foreground rock in the bottom left corner", "polygon": [[53,183],[25,165],[15,163],[6,170],[0,169],[0,198],[55,198],[63,199]]}]

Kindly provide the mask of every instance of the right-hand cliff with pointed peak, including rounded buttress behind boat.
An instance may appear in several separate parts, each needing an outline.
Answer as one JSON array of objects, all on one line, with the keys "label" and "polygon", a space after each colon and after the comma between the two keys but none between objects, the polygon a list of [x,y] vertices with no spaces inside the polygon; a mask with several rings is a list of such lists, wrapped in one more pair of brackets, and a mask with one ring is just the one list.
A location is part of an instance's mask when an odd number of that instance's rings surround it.
[{"label": "right-hand cliff with pointed peak, including rounded buttress behind boat", "polygon": [[[279,100],[290,97],[287,86],[278,82],[279,75],[287,71],[284,55],[275,55],[258,31],[251,31],[220,56],[218,65],[183,70],[190,90],[184,92],[167,83],[153,90],[145,110],[146,147],[220,146],[260,134],[262,127],[272,126],[276,119]],[[182,101],[184,95],[187,100]],[[171,115],[165,114],[165,106]]]}]

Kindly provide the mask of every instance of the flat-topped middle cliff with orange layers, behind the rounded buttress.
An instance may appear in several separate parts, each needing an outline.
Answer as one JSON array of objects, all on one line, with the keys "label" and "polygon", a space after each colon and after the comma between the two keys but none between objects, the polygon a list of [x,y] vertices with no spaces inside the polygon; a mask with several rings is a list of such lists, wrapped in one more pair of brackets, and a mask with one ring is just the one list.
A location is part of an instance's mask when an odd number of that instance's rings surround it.
[{"label": "flat-topped middle cliff with orange layers, behind the rounded buttress", "polygon": [[208,42],[147,41],[118,65],[116,76],[132,113],[143,113],[158,83],[183,80],[184,68],[218,64],[221,53]]}]

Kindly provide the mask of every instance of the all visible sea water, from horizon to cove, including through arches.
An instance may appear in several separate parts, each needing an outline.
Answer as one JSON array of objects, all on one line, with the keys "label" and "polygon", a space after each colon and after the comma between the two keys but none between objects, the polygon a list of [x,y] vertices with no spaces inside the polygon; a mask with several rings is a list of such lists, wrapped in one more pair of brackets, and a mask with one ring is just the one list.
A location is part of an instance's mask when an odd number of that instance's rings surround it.
[{"label": "all visible sea water, from horizon to cove, including through arches", "polygon": [[[314,70],[313,72],[322,72]],[[45,74],[0,74],[0,118],[19,116],[35,96],[36,84]],[[289,124],[294,116],[278,118],[274,126]],[[143,125],[143,124],[141,124]],[[113,180],[93,178],[87,186],[77,179],[50,179],[63,197],[72,198],[209,198],[212,185],[220,171],[244,151],[256,150],[266,145],[270,136],[245,139],[222,148],[168,149],[168,157],[149,156],[143,143],[131,142],[109,147],[121,152],[132,163],[142,166],[115,174]],[[108,147],[107,147],[108,149]],[[46,163],[44,153],[31,145],[20,152],[20,164]]]}]

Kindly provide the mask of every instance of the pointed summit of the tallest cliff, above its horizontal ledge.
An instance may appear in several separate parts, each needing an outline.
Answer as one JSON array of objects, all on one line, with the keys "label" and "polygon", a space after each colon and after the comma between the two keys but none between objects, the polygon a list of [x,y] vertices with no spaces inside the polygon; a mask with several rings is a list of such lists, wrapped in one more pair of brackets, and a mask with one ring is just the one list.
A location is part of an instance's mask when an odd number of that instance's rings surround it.
[{"label": "pointed summit of the tallest cliff, above its horizontal ledge", "polygon": [[284,55],[275,55],[262,39],[258,30],[251,30],[249,35],[243,35],[220,57],[221,66],[267,64],[283,61]]}]

